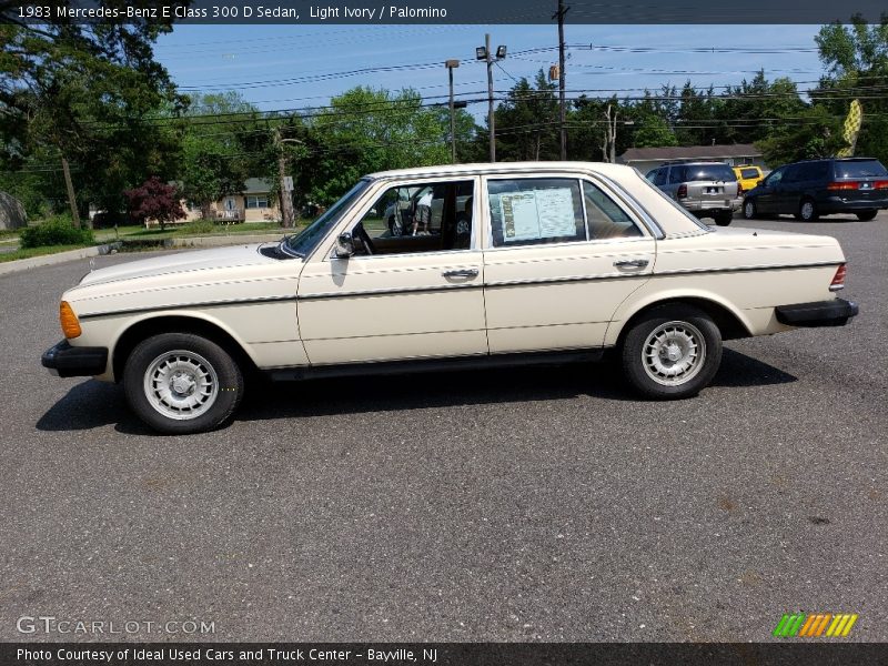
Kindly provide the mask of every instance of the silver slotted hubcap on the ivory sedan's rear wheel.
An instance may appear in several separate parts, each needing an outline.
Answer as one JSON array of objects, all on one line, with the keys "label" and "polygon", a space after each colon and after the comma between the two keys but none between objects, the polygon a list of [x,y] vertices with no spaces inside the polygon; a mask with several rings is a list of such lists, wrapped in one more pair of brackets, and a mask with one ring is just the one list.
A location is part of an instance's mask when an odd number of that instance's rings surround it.
[{"label": "silver slotted hubcap on the ivory sedan's rear wheel", "polygon": [[657,326],[642,349],[642,363],[647,376],[664,386],[689,382],[699,373],[705,359],[703,333],[687,322]]}]

